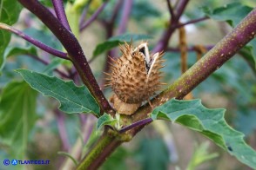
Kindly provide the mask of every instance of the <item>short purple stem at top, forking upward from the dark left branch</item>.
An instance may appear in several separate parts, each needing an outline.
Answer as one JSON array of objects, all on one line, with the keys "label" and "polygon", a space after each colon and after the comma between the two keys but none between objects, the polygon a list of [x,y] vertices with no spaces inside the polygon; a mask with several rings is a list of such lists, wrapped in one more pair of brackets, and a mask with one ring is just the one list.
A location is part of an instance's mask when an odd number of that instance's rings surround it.
[{"label": "short purple stem at top, forking upward from the dark left branch", "polygon": [[71,31],[70,24],[64,11],[64,3],[62,0],[51,0],[57,19],[64,25],[66,29]]}]

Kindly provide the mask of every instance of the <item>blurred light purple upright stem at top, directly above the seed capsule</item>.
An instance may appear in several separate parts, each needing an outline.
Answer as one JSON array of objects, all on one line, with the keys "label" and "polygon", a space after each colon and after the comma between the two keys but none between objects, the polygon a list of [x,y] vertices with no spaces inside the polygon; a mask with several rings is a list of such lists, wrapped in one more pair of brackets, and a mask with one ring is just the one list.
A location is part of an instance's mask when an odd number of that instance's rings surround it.
[{"label": "blurred light purple upright stem at top, directly above the seed capsule", "polygon": [[118,35],[125,33],[129,15],[131,13],[131,7],[132,7],[132,0],[125,0],[124,8],[123,8],[124,12],[122,14],[121,23],[119,24],[119,28],[117,32]]}]

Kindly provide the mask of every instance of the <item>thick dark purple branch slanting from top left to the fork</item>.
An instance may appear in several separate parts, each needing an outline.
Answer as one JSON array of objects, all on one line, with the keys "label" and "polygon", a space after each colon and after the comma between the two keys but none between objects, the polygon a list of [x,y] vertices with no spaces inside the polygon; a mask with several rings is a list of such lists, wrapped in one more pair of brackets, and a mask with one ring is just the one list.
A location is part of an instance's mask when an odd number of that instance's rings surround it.
[{"label": "thick dark purple branch slanting from top left to the fork", "polygon": [[111,108],[111,105],[105,99],[102,91],[98,87],[98,82],[91,72],[91,68],[84,56],[84,51],[77,41],[77,38],[38,1],[18,1],[22,3],[25,8],[34,13],[49,29],[51,29],[52,33],[57,36],[57,39],[63,44],[68,55],[71,57],[71,61],[76,67],[78,74],[84,82],[84,85],[89,88],[91,94],[98,101],[101,113],[106,112],[108,114],[115,114],[115,111]]}]

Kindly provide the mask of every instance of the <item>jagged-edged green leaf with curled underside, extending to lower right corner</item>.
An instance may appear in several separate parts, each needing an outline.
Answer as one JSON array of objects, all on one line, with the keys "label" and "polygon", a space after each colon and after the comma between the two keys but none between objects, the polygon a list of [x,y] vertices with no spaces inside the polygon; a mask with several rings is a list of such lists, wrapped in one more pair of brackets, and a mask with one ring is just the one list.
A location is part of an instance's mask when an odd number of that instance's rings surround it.
[{"label": "jagged-edged green leaf with curled underside, extending to lower right corner", "polygon": [[198,131],[211,139],[229,154],[249,167],[256,167],[256,152],[246,145],[244,134],[232,129],[224,120],[225,109],[205,108],[200,100],[178,101],[172,99],[155,108],[152,119],[165,119],[178,122]]}]

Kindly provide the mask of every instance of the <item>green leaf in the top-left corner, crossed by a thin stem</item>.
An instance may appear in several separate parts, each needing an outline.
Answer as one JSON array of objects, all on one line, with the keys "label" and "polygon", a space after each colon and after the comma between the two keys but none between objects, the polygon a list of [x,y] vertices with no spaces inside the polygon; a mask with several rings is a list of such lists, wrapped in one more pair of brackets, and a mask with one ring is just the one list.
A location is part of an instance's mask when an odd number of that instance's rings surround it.
[{"label": "green leaf in the top-left corner, crossed by a thin stem", "polygon": [[[22,6],[17,3],[17,0],[1,0],[0,4],[0,23],[12,25],[17,22]],[[1,8],[2,7],[2,8]],[[10,33],[6,30],[0,29],[0,71],[3,68],[5,58],[3,56],[4,50],[10,42]]]}]

